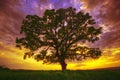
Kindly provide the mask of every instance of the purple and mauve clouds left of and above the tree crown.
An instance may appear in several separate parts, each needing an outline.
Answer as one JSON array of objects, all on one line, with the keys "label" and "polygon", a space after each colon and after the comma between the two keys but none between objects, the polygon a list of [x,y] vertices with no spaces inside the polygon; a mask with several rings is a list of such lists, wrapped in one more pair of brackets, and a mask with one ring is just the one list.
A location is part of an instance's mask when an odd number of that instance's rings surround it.
[{"label": "purple and mauve clouds left of and above the tree crown", "polygon": [[21,22],[27,14],[41,16],[46,9],[81,6],[75,3],[74,0],[1,0],[0,41],[14,44],[15,38],[19,36]]}]

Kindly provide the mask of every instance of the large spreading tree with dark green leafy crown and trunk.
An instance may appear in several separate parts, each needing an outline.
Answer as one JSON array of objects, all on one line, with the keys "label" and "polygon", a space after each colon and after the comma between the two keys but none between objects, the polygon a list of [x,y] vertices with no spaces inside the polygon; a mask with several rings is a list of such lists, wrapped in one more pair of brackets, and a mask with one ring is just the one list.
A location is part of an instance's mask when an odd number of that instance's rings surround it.
[{"label": "large spreading tree with dark green leafy crown and trunk", "polygon": [[[94,27],[95,20],[86,13],[76,12],[75,8],[46,10],[42,17],[27,15],[22,22],[21,34],[16,46],[29,49],[26,57],[34,56],[43,63],[60,63],[66,70],[66,60],[82,60],[87,57],[98,58],[99,48],[76,46],[79,42],[95,42],[99,39],[101,27]],[[35,53],[39,50],[39,53]]]}]

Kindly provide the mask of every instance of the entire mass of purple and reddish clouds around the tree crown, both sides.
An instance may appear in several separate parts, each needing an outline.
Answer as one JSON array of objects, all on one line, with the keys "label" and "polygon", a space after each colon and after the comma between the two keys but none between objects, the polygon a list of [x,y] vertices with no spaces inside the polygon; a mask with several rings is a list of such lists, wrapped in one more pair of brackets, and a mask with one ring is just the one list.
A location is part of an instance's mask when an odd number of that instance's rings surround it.
[{"label": "entire mass of purple and reddish clouds around the tree crown, both sides", "polygon": [[[102,39],[95,46],[120,45],[120,0],[1,0],[0,1],[0,42],[15,44],[15,38],[20,36],[20,26],[27,14],[42,16],[46,9],[75,7],[80,10],[87,5],[96,21],[105,24],[108,32],[103,33]],[[110,44],[110,43],[113,43]]]}]

